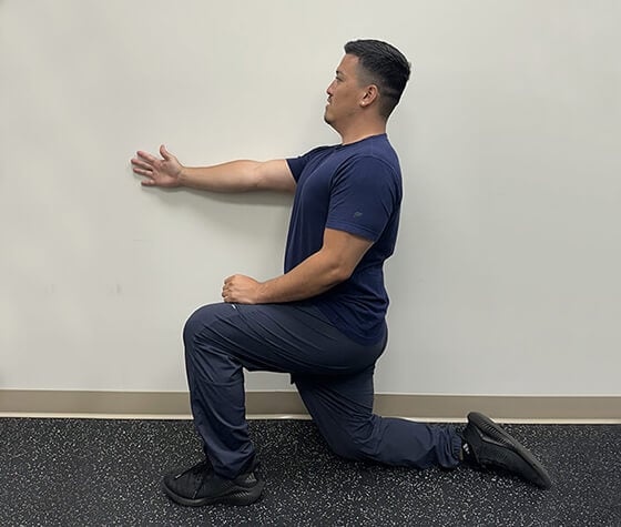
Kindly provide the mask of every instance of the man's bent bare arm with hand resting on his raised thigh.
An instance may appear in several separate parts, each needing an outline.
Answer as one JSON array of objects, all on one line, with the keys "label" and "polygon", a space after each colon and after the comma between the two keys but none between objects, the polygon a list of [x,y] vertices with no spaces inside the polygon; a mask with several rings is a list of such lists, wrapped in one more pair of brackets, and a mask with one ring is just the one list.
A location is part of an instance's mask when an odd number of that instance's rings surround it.
[{"label": "man's bent bare arm with hand resting on his raised thigh", "polygon": [[324,244],[299,265],[266,282],[235,274],[224,281],[222,298],[237,304],[269,304],[310,298],[347,280],[373,242],[326,229]]}]

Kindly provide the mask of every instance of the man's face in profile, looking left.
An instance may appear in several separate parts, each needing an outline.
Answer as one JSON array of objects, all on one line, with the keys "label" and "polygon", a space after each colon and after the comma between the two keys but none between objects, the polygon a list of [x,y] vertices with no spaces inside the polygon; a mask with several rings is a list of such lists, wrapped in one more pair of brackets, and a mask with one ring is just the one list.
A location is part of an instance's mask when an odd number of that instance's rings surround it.
[{"label": "man's face in profile, looking left", "polygon": [[328,103],[324,120],[335,129],[359,110],[365,88],[358,82],[358,58],[346,54],[336,69],[336,77],[327,88]]}]

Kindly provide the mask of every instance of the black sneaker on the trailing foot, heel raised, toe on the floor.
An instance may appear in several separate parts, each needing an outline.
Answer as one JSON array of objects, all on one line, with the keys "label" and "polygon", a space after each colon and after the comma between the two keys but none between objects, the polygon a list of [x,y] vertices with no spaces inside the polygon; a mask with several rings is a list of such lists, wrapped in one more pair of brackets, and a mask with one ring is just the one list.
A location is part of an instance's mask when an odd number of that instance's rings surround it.
[{"label": "black sneaker on the trailing foot, heel raised, toe on the floor", "polygon": [[551,487],[552,482],[546,468],[489,417],[471,412],[461,434],[467,462],[508,470],[541,488]]}]

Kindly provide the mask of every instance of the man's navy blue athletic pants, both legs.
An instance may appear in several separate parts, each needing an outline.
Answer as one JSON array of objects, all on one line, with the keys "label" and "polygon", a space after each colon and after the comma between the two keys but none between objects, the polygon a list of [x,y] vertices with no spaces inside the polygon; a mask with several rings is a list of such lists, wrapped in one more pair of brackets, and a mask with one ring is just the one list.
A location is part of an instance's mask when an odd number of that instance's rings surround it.
[{"label": "man's navy blue athletic pants, both legs", "polygon": [[234,478],[254,459],[243,367],[292,374],[319,432],[343,457],[417,468],[459,463],[455,429],[373,414],[373,373],[386,339],[359,345],[316,307],[211,304],[190,317],[183,337],[194,424],[222,477]]}]

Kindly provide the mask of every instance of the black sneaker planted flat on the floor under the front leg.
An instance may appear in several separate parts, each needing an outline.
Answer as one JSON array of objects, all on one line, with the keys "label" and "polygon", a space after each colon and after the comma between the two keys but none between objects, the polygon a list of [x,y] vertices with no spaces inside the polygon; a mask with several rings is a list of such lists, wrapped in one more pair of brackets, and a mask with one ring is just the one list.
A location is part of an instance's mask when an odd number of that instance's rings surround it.
[{"label": "black sneaker planted flat on the floor under the front leg", "polygon": [[162,489],[180,505],[250,505],[263,493],[265,483],[259,478],[256,465],[235,479],[224,479],[213,472],[208,460],[164,476]]}]

